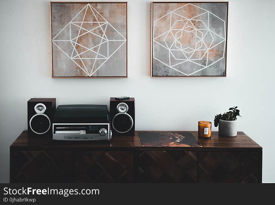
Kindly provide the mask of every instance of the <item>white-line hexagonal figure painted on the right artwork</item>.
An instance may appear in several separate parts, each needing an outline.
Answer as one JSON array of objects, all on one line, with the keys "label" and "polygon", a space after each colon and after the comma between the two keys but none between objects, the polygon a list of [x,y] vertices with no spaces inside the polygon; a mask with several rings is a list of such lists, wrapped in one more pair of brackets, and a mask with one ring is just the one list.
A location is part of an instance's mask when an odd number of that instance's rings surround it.
[{"label": "white-line hexagonal figure painted on the right artwork", "polygon": [[[178,12],[183,9],[189,9],[194,13],[199,13],[199,15],[183,16],[181,12]],[[223,35],[217,34],[215,31],[215,24],[209,22],[209,15],[211,15],[212,18],[219,19],[218,21],[222,21],[224,29],[224,31],[222,31],[222,33],[224,32]],[[158,25],[158,21],[164,17],[170,18],[170,29],[155,37],[154,31],[158,26],[161,26],[161,24]],[[226,45],[225,29],[224,20],[217,17],[212,12],[188,3],[153,22],[153,58],[183,75],[190,76],[224,58]],[[192,41],[183,43],[186,42],[187,39],[192,39]],[[209,63],[209,51],[220,44],[224,44],[222,56],[217,56],[214,60],[213,58],[215,57],[212,56],[212,61]],[[169,51],[167,54],[169,55],[169,62],[163,62],[161,58],[155,56],[157,51],[154,49],[154,45],[162,46]],[[202,61],[203,59],[205,59],[205,61]],[[194,66],[199,65],[197,70],[187,73],[184,71],[184,68],[181,69],[181,71],[176,68],[179,65],[184,67],[184,63],[187,62],[193,63]]]}]

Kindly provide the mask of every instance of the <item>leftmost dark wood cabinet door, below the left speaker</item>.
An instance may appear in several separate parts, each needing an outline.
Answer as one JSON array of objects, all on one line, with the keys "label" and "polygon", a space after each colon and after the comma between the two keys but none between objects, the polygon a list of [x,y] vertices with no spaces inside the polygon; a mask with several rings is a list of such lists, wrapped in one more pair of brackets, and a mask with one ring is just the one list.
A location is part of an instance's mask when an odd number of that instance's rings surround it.
[{"label": "leftmost dark wood cabinet door, below the left speaker", "polygon": [[14,151],[12,162],[12,182],[62,183],[73,179],[71,151]]}]

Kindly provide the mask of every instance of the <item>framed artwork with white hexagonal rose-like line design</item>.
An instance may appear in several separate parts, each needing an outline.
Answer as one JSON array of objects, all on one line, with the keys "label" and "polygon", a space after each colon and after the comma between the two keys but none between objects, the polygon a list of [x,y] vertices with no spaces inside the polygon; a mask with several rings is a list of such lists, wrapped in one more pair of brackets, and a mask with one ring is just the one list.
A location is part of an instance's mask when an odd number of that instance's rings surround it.
[{"label": "framed artwork with white hexagonal rose-like line design", "polygon": [[152,2],[151,77],[226,77],[228,2]]}]

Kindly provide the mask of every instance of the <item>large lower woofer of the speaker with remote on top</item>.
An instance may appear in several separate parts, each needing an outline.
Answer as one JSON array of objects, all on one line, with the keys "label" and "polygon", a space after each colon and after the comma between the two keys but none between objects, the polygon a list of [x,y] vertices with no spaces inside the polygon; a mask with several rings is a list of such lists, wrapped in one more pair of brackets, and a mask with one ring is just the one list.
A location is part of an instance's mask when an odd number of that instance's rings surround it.
[{"label": "large lower woofer of the speaker with remote on top", "polygon": [[126,133],[133,127],[133,118],[128,113],[118,113],[113,117],[112,125],[118,133]]}]

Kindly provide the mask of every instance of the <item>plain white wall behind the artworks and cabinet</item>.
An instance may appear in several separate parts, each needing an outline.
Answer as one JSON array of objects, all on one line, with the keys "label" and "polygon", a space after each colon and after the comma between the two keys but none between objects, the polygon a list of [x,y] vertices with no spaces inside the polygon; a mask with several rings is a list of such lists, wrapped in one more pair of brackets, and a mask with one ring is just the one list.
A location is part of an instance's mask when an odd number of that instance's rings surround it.
[{"label": "plain white wall behind the artworks and cabinet", "polygon": [[129,78],[52,79],[49,2],[1,0],[0,182],[9,182],[9,146],[27,129],[27,100],[108,105],[129,95],[136,130],[197,130],[238,105],[239,130],[263,147],[263,182],[274,183],[275,1],[230,0],[226,78],[150,78],[150,0],[128,2]]}]

